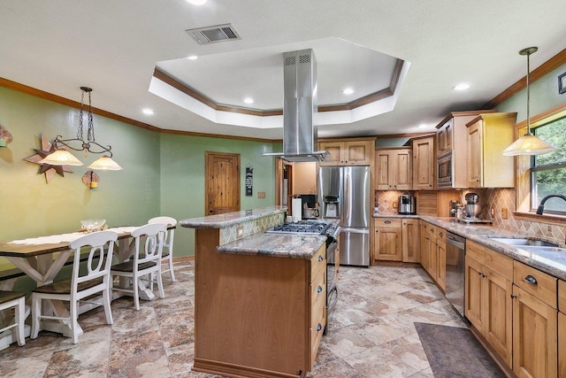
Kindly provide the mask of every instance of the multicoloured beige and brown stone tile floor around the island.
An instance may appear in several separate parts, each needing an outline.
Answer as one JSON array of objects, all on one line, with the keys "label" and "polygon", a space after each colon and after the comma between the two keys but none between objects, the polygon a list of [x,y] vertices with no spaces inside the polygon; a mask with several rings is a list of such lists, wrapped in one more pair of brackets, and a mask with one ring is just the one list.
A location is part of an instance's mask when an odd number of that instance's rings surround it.
[{"label": "multicoloured beige and brown stone tile floor around the island", "polygon": [[[194,358],[194,266],[164,275],[165,298],[112,302],[80,315],[79,343],[41,332],[24,347],[0,351],[2,377],[212,377],[191,371]],[[465,327],[423,269],[340,267],[340,297],[310,377],[432,377],[415,321]]]}]

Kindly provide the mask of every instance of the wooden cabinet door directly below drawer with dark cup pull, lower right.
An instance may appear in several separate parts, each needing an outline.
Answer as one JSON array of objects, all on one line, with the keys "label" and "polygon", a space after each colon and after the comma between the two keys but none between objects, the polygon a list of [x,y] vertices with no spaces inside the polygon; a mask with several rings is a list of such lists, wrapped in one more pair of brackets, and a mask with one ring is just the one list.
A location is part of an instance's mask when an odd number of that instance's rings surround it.
[{"label": "wooden cabinet door directly below drawer with dark cup pull, lower right", "polygon": [[513,285],[513,372],[554,378],[558,372],[558,312]]}]

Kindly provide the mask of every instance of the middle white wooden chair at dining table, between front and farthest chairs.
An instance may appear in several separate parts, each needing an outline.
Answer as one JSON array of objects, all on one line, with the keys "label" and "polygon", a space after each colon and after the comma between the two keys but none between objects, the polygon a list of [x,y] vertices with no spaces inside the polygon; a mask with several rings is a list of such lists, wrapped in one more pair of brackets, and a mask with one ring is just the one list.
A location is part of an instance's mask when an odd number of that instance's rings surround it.
[{"label": "middle white wooden chair at dining table, between front and farthest chairs", "polygon": [[[161,252],[167,226],[164,223],[147,224],[132,231],[135,238],[134,257],[126,262],[111,267],[111,275],[131,278],[131,287],[114,285],[112,290],[131,293],[134,297],[134,307],[140,309],[140,280],[153,284],[157,279],[159,297],[164,298],[163,282],[161,280]],[[147,278],[143,278],[147,276]]]}]

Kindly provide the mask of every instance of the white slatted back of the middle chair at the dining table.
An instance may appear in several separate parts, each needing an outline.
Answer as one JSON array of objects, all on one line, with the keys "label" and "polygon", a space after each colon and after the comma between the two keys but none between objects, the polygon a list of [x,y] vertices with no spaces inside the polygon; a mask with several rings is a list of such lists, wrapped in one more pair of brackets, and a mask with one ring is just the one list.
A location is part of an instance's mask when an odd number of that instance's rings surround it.
[{"label": "white slatted back of the middle chair at the dining table", "polygon": [[132,231],[135,238],[134,266],[152,261],[161,264],[166,231],[167,226],[164,223],[151,223]]}]

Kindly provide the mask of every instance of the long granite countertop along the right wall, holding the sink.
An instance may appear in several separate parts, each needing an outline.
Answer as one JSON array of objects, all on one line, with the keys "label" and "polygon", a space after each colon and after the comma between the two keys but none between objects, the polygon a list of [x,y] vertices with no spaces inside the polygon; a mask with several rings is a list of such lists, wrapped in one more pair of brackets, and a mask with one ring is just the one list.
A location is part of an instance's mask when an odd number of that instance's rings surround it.
[{"label": "long granite countertop along the right wall, holding the sink", "polygon": [[[566,281],[566,252],[561,251],[525,251],[520,246],[508,245],[494,241],[493,237],[533,237],[532,235],[525,235],[524,233],[509,230],[509,228],[498,228],[492,225],[473,225],[460,223],[455,218],[441,218],[441,217],[427,217],[420,215],[387,215],[387,214],[373,214],[374,218],[413,218],[427,221],[434,226],[444,228],[449,232],[456,235],[465,237],[468,240],[485,245],[493,251],[498,251],[510,258],[521,261],[528,266],[539,269],[547,274],[554,275],[561,280]],[[537,239],[547,240],[552,242],[551,239],[536,236]],[[564,244],[561,245],[564,247]]]}]

